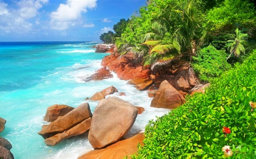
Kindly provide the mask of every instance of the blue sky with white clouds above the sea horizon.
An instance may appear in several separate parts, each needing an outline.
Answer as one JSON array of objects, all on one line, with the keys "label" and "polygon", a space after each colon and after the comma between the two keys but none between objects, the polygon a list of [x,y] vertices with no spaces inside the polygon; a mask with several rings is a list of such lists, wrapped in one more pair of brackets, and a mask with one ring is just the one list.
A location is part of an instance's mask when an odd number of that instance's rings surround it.
[{"label": "blue sky with white clouds above the sea horizon", "polygon": [[146,0],[0,0],[0,42],[100,41]]}]

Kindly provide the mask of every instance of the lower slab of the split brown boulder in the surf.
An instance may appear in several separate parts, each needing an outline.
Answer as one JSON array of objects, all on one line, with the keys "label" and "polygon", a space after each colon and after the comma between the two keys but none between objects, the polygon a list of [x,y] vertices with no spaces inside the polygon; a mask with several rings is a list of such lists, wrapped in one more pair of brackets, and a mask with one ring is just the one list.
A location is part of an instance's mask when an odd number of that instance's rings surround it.
[{"label": "lower slab of the split brown boulder in the surf", "polygon": [[46,143],[47,146],[55,146],[56,144],[60,143],[60,141],[67,139],[68,137],[84,134],[90,128],[90,122],[91,118],[87,118],[85,121],[82,121],[69,130],[49,137],[48,139],[44,140],[44,143]]}]

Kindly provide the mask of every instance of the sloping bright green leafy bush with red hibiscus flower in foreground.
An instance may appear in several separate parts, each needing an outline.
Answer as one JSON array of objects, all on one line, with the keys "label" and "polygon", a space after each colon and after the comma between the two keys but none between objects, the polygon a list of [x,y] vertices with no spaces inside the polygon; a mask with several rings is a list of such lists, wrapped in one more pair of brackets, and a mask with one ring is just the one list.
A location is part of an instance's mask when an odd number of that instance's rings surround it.
[{"label": "sloping bright green leafy bush with red hibiscus flower in foreground", "polygon": [[[256,158],[256,50],[242,64],[214,80],[205,94],[150,121],[144,146],[131,158]],[[224,130],[225,127],[225,130]],[[230,133],[230,134],[229,134]]]}]

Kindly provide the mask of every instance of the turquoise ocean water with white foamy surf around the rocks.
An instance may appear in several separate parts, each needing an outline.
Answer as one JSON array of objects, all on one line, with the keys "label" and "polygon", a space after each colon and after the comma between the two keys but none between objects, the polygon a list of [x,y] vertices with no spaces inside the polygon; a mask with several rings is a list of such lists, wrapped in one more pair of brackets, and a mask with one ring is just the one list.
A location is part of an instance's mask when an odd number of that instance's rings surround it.
[{"label": "turquoise ocean water with white foamy surf around the rocks", "polygon": [[146,92],[114,78],[84,82],[82,79],[101,68],[108,53],[94,53],[98,42],[0,42],[0,117],[6,119],[0,133],[13,145],[15,159],[77,158],[93,150],[86,135],[63,140],[54,147],[44,144],[38,135],[48,106],[65,104],[77,107],[88,102],[92,112],[98,102],[86,97],[113,85],[126,96],[114,93],[145,111],[138,115],[129,134],[144,131],[150,119],[162,116],[166,109],[150,108],[152,98]]}]

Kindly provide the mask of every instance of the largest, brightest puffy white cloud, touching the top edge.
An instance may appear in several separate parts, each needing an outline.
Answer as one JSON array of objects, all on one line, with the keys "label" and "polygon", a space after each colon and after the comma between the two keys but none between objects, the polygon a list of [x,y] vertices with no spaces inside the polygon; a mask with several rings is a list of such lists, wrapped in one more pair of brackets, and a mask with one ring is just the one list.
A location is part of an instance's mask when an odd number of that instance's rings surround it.
[{"label": "largest, brightest puffy white cloud, touching the top edge", "polygon": [[[57,11],[51,13],[51,26],[52,29],[64,30],[69,27],[69,25],[75,25],[76,23],[71,23],[81,19],[81,14],[87,12],[87,9],[96,7],[97,0],[68,0],[67,4],[60,4]],[[61,23],[64,25],[61,29]]]}]

